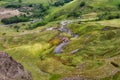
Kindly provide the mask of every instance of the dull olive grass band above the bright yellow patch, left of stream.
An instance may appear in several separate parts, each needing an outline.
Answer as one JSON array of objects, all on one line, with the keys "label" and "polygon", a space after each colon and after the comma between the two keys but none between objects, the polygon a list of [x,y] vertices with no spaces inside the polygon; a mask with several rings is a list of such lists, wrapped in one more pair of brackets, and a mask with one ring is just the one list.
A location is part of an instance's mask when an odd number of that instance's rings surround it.
[{"label": "dull olive grass band above the bright yellow patch, left of stream", "polygon": [[[54,33],[54,34],[53,34]],[[57,31],[45,31],[45,32],[25,32],[13,36],[3,36],[1,37],[1,44],[5,48],[12,48],[21,46],[23,44],[34,44],[37,42],[48,42],[54,36],[57,35]]]}]

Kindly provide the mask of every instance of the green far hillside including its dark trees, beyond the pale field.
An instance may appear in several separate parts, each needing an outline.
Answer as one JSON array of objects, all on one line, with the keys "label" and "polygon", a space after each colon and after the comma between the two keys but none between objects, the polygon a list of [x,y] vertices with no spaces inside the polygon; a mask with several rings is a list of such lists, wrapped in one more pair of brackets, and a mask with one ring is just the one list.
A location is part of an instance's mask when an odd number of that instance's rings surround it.
[{"label": "green far hillside including its dark trees, beyond the pale field", "polygon": [[[120,1],[116,0],[73,0],[62,7],[52,7],[49,9],[49,15],[45,15],[43,22],[37,22],[36,26],[42,23],[62,20],[82,18],[85,14],[95,13],[96,16],[115,16],[120,14],[119,12]],[[105,14],[108,13],[108,14]],[[105,14],[105,15],[103,15]],[[94,14],[93,14],[94,16]],[[99,16],[100,17],[100,16]]]}]

